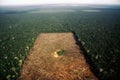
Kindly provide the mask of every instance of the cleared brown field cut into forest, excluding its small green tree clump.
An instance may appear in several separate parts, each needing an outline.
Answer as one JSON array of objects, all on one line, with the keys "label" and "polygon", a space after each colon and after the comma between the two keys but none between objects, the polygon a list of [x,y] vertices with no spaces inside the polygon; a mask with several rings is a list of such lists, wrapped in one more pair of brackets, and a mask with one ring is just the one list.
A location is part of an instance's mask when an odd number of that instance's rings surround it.
[{"label": "cleared brown field cut into forest, excluding its small green tree clump", "polygon": [[[56,51],[65,54],[56,57]],[[40,34],[18,80],[98,80],[91,72],[72,33]]]}]

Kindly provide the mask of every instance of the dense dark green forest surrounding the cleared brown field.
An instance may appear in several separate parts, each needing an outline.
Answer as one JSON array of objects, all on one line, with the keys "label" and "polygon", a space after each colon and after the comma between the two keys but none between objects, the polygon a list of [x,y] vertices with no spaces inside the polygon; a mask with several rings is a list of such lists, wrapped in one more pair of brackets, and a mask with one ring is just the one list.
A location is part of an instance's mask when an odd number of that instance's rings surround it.
[{"label": "dense dark green forest surrounding the cleared brown field", "polygon": [[[41,9],[47,8],[38,8]],[[95,8],[83,7],[59,9],[71,12],[32,13],[28,10],[20,14],[0,14],[0,79],[15,80],[18,77],[39,33],[69,31],[77,34],[99,71],[100,79],[120,76],[120,8],[96,8],[100,12],[84,12],[82,10]]]}]

